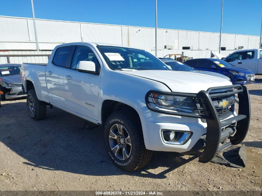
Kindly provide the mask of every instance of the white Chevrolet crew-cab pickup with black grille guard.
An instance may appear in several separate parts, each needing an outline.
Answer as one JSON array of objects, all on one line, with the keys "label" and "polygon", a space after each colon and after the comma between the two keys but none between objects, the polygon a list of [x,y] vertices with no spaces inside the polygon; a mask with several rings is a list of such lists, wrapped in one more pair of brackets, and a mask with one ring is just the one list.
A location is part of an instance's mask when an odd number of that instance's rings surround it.
[{"label": "white Chevrolet crew-cab pickup with black grille guard", "polygon": [[50,105],[100,125],[107,154],[125,171],[146,165],[153,150],[196,152],[209,162],[217,151],[242,142],[249,127],[246,86],[169,70],[136,48],[62,44],[47,65],[23,63],[21,78],[34,120],[43,119]]}]

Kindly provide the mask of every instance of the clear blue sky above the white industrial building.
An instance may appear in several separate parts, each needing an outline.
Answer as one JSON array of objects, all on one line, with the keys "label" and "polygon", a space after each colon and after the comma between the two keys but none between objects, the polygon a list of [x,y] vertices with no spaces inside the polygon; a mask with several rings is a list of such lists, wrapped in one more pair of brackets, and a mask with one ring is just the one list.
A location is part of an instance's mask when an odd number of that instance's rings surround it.
[{"label": "clear blue sky above the white industrial building", "polygon": [[[221,1],[158,0],[158,28],[220,32]],[[224,0],[222,32],[260,36],[261,8],[262,0]],[[155,26],[155,0],[34,0],[34,9],[42,19]],[[1,1],[0,15],[31,18],[31,1]]]}]

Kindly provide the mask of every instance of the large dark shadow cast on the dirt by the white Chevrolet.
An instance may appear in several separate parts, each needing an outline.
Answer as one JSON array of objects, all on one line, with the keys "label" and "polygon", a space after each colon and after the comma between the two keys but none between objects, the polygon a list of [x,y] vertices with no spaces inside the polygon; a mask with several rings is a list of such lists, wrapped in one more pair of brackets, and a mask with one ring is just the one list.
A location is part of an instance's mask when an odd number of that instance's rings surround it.
[{"label": "large dark shadow cast on the dirt by the white Chevrolet", "polygon": [[115,167],[109,159],[104,150],[102,128],[60,109],[47,108],[47,118],[34,121],[25,102],[2,102],[0,123],[0,141],[26,159],[22,163],[45,170],[161,179],[197,158],[187,156],[189,158],[185,159],[177,153],[155,152],[145,168],[128,173]]}]

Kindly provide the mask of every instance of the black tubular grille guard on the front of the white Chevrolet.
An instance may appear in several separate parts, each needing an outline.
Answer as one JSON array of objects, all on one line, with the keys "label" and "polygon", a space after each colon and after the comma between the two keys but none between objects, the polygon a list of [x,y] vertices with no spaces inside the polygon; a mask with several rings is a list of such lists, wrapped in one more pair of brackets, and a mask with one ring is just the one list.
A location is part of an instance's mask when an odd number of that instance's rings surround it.
[{"label": "black tubular grille guard on the front of the white Chevrolet", "polygon": [[[236,89],[234,91],[216,93],[212,91],[223,90],[223,89]],[[199,104],[202,104],[202,111],[205,111],[204,115],[186,113],[186,112],[176,112],[170,111],[166,109],[157,109],[152,106],[155,104],[150,96],[151,93],[164,94],[170,96],[181,96],[181,97],[189,97],[189,98],[197,98],[200,100]],[[238,94],[238,115],[226,120],[219,120],[219,116],[213,105],[212,99],[215,97],[225,97],[233,94]],[[151,99],[151,100],[149,100]],[[158,113],[164,113],[168,115],[177,115],[177,116],[185,116],[192,118],[200,118],[206,119],[207,128],[206,128],[206,140],[205,140],[205,148],[199,155],[199,161],[201,162],[209,162],[213,159],[217,151],[224,149],[225,147],[233,144],[237,145],[244,140],[246,137],[249,123],[250,123],[250,98],[249,93],[246,86],[241,85],[230,85],[230,86],[220,86],[220,87],[212,87],[205,90],[201,90],[198,94],[187,94],[187,93],[175,93],[175,92],[162,92],[162,91],[153,91],[150,90],[145,97],[145,102],[149,110],[155,111]],[[158,105],[158,104],[157,104]],[[199,108],[196,110],[199,111]],[[219,147],[220,144],[220,136],[222,128],[227,127],[231,124],[236,125],[236,132],[234,136],[229,137],[230,142],[223,143],[223,146]]]}]

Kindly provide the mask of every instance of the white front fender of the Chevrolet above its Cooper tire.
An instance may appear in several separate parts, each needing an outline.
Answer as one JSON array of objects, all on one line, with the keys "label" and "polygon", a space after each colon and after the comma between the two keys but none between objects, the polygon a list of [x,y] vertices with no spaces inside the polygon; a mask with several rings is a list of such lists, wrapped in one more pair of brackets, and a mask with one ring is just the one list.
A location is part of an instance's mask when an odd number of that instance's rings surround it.
[{"label": "white front fender of the Chevrolet above its Cooper tire", "polygon": [[[114,79],[112,80],[112,78]],[[106,70],[102,73],[99,84],[99,123],[102,122],[101,108],[105,100],[124,103],[134,108],[139,115],[148,111],[145,95],[152,89],[170,92],[167,86],[158,81],[123,72]]]}]

